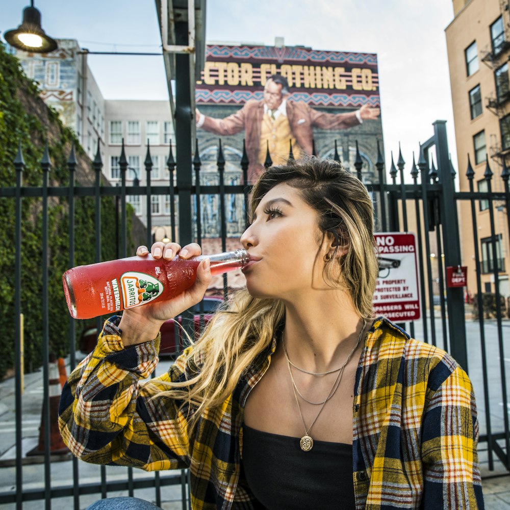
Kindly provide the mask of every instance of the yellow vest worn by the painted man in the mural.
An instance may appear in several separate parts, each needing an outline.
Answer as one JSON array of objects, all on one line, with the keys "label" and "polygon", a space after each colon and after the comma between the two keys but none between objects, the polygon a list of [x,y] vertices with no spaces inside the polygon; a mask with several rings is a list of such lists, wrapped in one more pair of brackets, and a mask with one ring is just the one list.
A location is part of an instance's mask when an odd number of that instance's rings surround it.
[{"label": "yellow vest worn by the painted man in the mural", "polygon": [[269,155],[273,165],[281,165],[289,158],[289,140],[292,140],[292,153],[295,159],[299,159],[303,150],[296,143],[290,130],[289,119],[286,115],[278,115],[272,120],[268,113],[262,117],[262,128],[259,144],[259,163],[266,161],[267,142],[269,141]]}]

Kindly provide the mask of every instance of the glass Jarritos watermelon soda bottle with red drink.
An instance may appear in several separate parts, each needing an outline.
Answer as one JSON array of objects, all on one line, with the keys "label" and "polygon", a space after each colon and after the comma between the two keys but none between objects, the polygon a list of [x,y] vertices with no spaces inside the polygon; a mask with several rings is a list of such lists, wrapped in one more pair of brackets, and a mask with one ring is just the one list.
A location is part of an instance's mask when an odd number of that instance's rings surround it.
[{"label": "glass Jarritos watermelon soda bottle with red drink", "polygon": [[193,285],[204,258],[211,261],[213,275],[250,261],[248,252],[238,249],[191,259],[155,260],[148,255],[73,267],[62,275],[69,313],[75,319],[91,319],[171,299]]}]

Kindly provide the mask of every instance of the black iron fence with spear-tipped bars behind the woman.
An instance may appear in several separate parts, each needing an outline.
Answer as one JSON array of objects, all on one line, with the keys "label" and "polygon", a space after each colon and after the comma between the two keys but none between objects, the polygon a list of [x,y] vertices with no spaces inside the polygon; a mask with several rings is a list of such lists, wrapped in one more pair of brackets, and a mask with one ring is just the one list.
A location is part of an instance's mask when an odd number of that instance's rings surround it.
[{"label": "black iron fence with spear-tipped bars behind the woman", "polygon": [[[432,153],[435,152],[437,168],[432,162]],[[147,245],[153,241],[152,238],[152,217],[150,211],[151,196],[169,195],[170,197],[170,214],[168,223],[170,226],[171,240],[179,240],[177,237],[179,232],[194,231],[195,240],[199,244],[203,238],[204,216],[202,214],[203,200],[208,197],[218,197],[218,234],[221,242],[222,250],[226,250],[226,242],[229,235],[228,223],[232,220],[229,216],[228,197],[234,196],[242,203],[243,221],[246,222],[246,205],[250,186],[247,184],[230,184],[225,179],[225,160],[222,153],[221,141],[217,154],[217,184],[210,184],[201,176],[201,160],[198,145],[195,146],[195,157],[192,161],[192,169],[186,179],[181,178],[175,180],[174,172],[176,169],[176,161],[171,153],[167,160],[169,170],[168,184],[162,186],[153,186],[150,182],[150,170],[152,166],[150,158],[150,148],[147,147],[147,155],[145,159],[146,185],[127,186],[126,171],[128,163],[121,149],[119,159],[120,167],[120,186],[110,187],[102,185],[102,167],[99,156],[99,148],[97,156],[92,164],[95,181],[92,186],[77,186],[74,181],[74,170],[76,168],[76,159],[74,150],[71,150],[68,160],[69,182],[64,185],[49,186],[48,173],[50,171],[50,161],[48,150],[46,148],[44,157],[41,161],[41,171],[43,175],[43,183],[40,187],[25,187],[22,184],[22,174],[24,170],[24,161],[21,150],[18,151],[13,166],[16,174],[16,184],[13,187],[0,188],[0,199],[14,200],[15,203],[15,230],[14,230],[14,249],[16,252],[16,263],[14,268],[14,317],[15,337],[14,349],[16,352],[15,359],[15,482],[14,490],[0,492],[0,504],[16,503],[17,508],[21,508],[24,502],[33,500],[44,500],[45,507],[50,508],[52,499],[54,498],[70,498],[75,509],[80,508],[80,501],[86,495],[96,494],[97,497],[106,497],[112,492],[123,491],[128,495],[134,495],[135,491],[153,488],[154,501],[161,506],[162,499],[168,497],[164,489],[171,486],[180,487],[180,501],[182,507],[189,507],[188,497],[188,474],[186,471],[172,473],[154,473],[150,476],[145,474],[139,475],[132,469],[127,469],[124,478],[114,477],[109,479],[110,472],[105,466],[97,467],[98,474],[93,481],[82,481],[80,473],[83,471],[83,465],[76,458],[67,460],[69,476],[67,483],[55,484],[51,480],[53,455],[50,451],[50,411],[49,411],[49,383],[48,383],[48,363],[50,358],[49,352],[49,334],[48,334],[48,247],[50,235],[48,232],[48,214],[51,200],[54,197],[65,199],[66,208],[69,215],[68,222],[68,267],[75,265],[75,227],[73,222],[74,209],[78,200],[85,197],[92,197],[94,201],[94,224],[95,224],[95,261],[101,261],[101,198],[111,197],[118,203],[116,214],[119,214],[117,236],[119,248],[119,256],[125,257],[128,254],[128,233],[127,225],[127,197],[130,195],[146,196],[146,231],[145,242]],[[338,158],[338,152],[335,152]],[[271,164],[270,160],[267,164]],[[248,159],[246,152],[239,162],[240,174],[242,175],[242,183],[247,183]],[[374,200],[377,211],[378,224],[382,232],[414,230],[417,234],[418,241],[418,262],[419,262],[419,280],[420,280],[420,301],[421,301],[421,317],[418,323],[411,322],[407,326],[412,336],[416,336],[421,340],[429,342],[433,345],[439,345],[449,351],[454,358],[470,372],[470,376],[474,380],[475,390],[480,407],[480,422],[482,426],[482,434],[480,443],[487,444],[487,463],[489,469],[494,469],[496,458],[506,468],[510,469],[508,452],[510,451],[510,431],[508,427],[508,399],[507,384],[505,371],[505,342],[507,340],[503,335],[503,316],[500,307],[500,271],[504,270],[499,261],[495,261],[492,254],[498,254],[496,247],[496,234],[508,234],[510,237],[510,222],[507,218],[507,230],[505,232],[496,232],[498,229],[494,223],[494,210],[503,204],[506,210],[510,206],[510,191],[508,190],[508,177],[510,172],[506,168],[503,169],[501,179],[503,182],[503,191],[493,191],[491,183],[493,179],[492,172],[487,165],[486,179],[488,181],[488,190],[486,192],[473,191],[474,172],[471,166],[468,167],[467,177],[469,180],[469,191],[455,191],[455,171],[451,166],[448,157],[448,146],[446,142],[445,123],[438,121],[434,124],[433,136],[420,146],[420,155],[417,164],[413,161],[409,179],[411,182],[406,183],[404,179],[405,162],[401,152],[397,165],[392,161],[390,168],[391,183],[385,182],[385,162],[382,158],[378,147],[378,157],[375,163],[377,170],[378,182],[367,184],[367,188]],[[363,162],[358,155],[354,161],[354,169],[356,175],[363,179]],[[194,182],[192,179],[194,175]],[[397,183],[397,177],[399,182]],[[238,182],[240,182],[239,180]],[[207,182],[208,184],[202,184]],[[185,183],[185,185],[183,185]],[[186,195],[186,200],[180,200]],[[19,369],[22,362],[21,359],[21,334],[22,326],[19,321],[20,314],[31,313],[31,311],[23,311],[21,309],[21,273],[25,268],[21,264],[22,253],[22,234],[21,234],[21,217],[23,200],[26,197],[32,197],[40,200],[41,204],[41,260],[42,260],[42,296],[41,296],[41,317],[42,317],[42,372],[41,385],[43,387],[42,394],[42,424],[44,425],[44,454],[41,456],[42,482],[37,488],[27,488],[23,485],[24,477],[24,454],[22,451],[23,443],[23,406],[22,406],[22,371]],[[492,250],[489,251],[490,261],[481,261],[480,259],[480,240],[478,239],[477,221],[478,216],[475,210],[475,204],[479,200],[487,200],[490,215],[490,226]],[[470,215],[465,214],[465,207],[469,209]],[[464,209],[463,209],[464,208]],[[461,243],[458,227],[458,210],[462,210],[463,221],[471,221],[472,224],[472,242],[474,247],[474,257],[476,263],[476,294],[478,299],[479,310],[483,309],[482,289],[480,275],[485,269],[482,265],[487,262],[487,270],[492,271],[495,283],[496,293],[496,310],[495,318],[491,327],[494,326],[497,335],[489,337],[486,334],[488,322],[484,320],[483,314],[480,314],[476,322],[477,335],[471,339],[466,334],[466,310],[465,295],[463,289],[453,289],[445,283],[446,267],[461,265],[463,263],[461,257]],[[239,218],[236,218],[239,221]],[[432,260],[431,244],[436,246],[438,254],[444,257],[436,257]],[[90,261],[93,262],[93,261]],[[223,276],[223,293],[228,293],[227,276]],[[202,309],[203,311],[203,309]],[[184,314],[187,319],[186,327],[193,334],[193,317],[191,312]],[[186,322],[186,320],[185,320]],[[101,327],[100,318],[96,321],[97,329]],[[471,324],[469,324],[471,328]],[[68,339],[69,339],[69,356],[70,369],[75,366],[75,342],[77,337],[76,323],[69,319]],[[469,344],[469,345],[468,345]],[[178,343],[176,343],[178,345]],[[468,352],[469,351],[469,352]],[[469,354],[469,355],[468,355]],[[497,360],[496,365],[494,365]],[[492,377],[489,377],[489,373]],[[494,377],[497,375],[496,383]],[[491,379],[491,380],[489,380]],[[499,402],[494,402],[494,396],[497,393],[496,400],[501,399],[502,407],[499,409]],[[498,419],[495,420],[494,417]],[[4,469],[4,468],[0,468]],[[118,468],[123,470],[124,468]],[[124,471],[122,471],[124,472]]]}]

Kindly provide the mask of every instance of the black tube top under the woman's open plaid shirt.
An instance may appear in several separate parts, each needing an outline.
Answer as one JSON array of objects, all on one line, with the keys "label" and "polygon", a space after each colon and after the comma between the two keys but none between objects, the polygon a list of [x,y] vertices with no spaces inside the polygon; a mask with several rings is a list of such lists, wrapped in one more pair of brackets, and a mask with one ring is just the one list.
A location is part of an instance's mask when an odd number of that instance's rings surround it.
[{"label": "black tube top under the woman's open plaid shirt", "polygon": [[297,438],[243,425],[242,468],[258,508],[355,508],[352,445],[314,441],[302,451]]}]

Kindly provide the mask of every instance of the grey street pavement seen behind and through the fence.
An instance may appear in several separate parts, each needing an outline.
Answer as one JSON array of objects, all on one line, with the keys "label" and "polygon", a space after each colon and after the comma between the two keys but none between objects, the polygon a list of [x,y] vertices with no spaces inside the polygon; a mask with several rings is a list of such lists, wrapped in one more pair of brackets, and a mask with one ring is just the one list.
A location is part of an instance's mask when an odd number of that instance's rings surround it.
[{"label": "grey street pavement seen behind and through the fence", "polygon": [[[430,329],[430,327],[428,327]],[[436,320],[438,332],[437,345],[443,346],[441,323]],[[415,323],[415,338],[423,338],[423,325]],[[486,433],[488,426],[493,432],[504,430],[505,421],[510,417],[510,408],[503,409],[503,392],[510,395],[510,387],[506,372],[510,371],[510,321],[503,322],[503,355],[499,354],[499,341],[497,325],[494,320],[487,320],[484,328],[485,348],[487,353],[486,378],[488,381],[488,406],[486,407],[486,396],[483,392],[483,366],[480,345],[480,330],[478,322],[467,320],[467,348],[469,366],[468,373],[472,380],[478,404],[478,416],[480,422],[480,434]],[[67,373],[69,373],[69,360],[66,360]],[[156,370],[157,374],[167,369],[170,360],[163,359]],[[503,372],[503,373],[502,373]],[[42,370],[25,375],[25,391],[22,396],[22,450],[23,463],[28,461],[24,453],[37,445],[39,425],[41,420],[41,407],[43,397]],[[15,491],[15,393],[14,378],[0,382],[0,500],[2,495]],[[506,411],[506,413],[505,413]],[[504,441],[498,441],[505,450]],[[510,510],[510,474],[505,470],[502,463],[494,455],[494,470],[489,471],[489,452],[487,443],[479,445],[479,461],[483,478],[483,493],[486,508],[489,510]],[[35,459],[38,460],[37,458]],[[40,459],[39,459],[40,460]],[[76,465],[76,468],[73,468]],[[61,462],[50,464],[50,476],[52,488],[70,487],[73,482],[73,469],[77,470],[80,484],[100,485],[100,467],[86,464],[81,461],[72,461],[69,456],[64,456]],[[125,481],[127,469],[115,466],[107,466],[106,479],[108,482]],[[168,474],[179,475],[181,471],[161,473],[161,476]],[[154,473],[145,473],[141,470],[133,470],[133,478],[142,480],[153,478]],[[22,471],[23,490],[41,490],[44,488],[44,464],[26,464]],[[109,497],[125,496],[122,491],[109,492]],[[155,502],[155,489],[136,490],[134,496]],[[99,494],[90,494],[80,497],[80,508],[86,508],[90,503],[99,499]],[[165,510],[177,510],[183,508],[181,485],[177,484],[161,488],[162,508]],[[27,501],[23,508],[27,510],[40,510],[44,502]],[[73,507],[71,498],[55,498],[52,500],[52,508],[56,510],[67,510]],[[14,510],[14,503],[0,504],[1,510]]]}]

